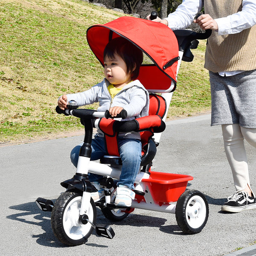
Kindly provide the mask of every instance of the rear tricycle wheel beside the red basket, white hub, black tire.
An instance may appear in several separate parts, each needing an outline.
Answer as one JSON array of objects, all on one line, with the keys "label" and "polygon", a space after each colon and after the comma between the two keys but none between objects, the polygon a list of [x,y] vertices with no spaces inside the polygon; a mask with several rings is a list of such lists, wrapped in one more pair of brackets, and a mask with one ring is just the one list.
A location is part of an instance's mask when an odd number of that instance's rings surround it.
[{"label": "rear tricycle wheel beside the red basket, white hub, black tire", "polygon": [[200,233],[209,216],[209,205],[204,194],[194,189],[186,190],[177,201],[175,216],[184,233]]}]

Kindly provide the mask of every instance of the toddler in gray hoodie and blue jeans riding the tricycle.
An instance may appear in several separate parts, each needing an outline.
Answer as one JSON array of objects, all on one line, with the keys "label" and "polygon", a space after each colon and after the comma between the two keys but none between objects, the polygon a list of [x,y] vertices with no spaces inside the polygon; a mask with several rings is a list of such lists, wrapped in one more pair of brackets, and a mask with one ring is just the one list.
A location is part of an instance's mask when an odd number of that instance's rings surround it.
[{"label": "toddler in gray hoodie and blue jeans riding the tricycle", "polygon": [[[104,50],[105,79],[89,90],[81,93],[62,95],[58,99],[61,109],[67,108],[67,102],[75,100],[79,106],[99,102],[98,111],[109,110],[111,116],[116,116],[122,109],[127,111],[126,120],[132,120],[148,115],[148,91],[139,80],[140,66],[143,53],[125,38],[118,37],[111,40]],[[130,207],[135,193],[134,181],[140,170],[141,142],[139,132],[119,133],[118,146],[122,159],[122,171],[117,183],[115,205]],[[71,162],[77,166],[81,145],[73,148],[70,154]],[[98,160],[107,154],[104,134],[97,131],[92,140],[91,160]],[[104,197],[104,189],[100,186],[100,175],[89,174],[89,180],[98,189],[92,193],[95,202]]]}]

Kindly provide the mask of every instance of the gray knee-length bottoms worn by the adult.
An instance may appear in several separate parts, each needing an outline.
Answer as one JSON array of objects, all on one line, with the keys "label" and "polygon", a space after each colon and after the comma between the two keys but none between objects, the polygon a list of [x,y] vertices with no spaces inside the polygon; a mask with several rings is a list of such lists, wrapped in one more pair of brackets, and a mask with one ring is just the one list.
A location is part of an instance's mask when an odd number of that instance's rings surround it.
[{"label": "gray knee-length bottoms worn by the adult", "polygon": [[212,95],[211,125],[239,124],[256,128],[256,70],[235,76],[209,71]]}]

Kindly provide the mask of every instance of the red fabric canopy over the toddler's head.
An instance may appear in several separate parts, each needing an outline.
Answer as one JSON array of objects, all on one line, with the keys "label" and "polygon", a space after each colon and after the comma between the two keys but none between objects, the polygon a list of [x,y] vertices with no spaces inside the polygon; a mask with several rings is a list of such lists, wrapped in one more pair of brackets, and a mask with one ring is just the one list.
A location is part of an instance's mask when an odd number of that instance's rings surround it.
[{"label": "red fabric canopy over the toddler's head", "polygon": [[138,79],[149,91],[173,91],[176,87],[177,39],[168,26],[135,17],[120,17],[87,29],[87,42],[104,66],[103,52],[108,42],[121,36],[139,47],[153,64],[143,64]]}]

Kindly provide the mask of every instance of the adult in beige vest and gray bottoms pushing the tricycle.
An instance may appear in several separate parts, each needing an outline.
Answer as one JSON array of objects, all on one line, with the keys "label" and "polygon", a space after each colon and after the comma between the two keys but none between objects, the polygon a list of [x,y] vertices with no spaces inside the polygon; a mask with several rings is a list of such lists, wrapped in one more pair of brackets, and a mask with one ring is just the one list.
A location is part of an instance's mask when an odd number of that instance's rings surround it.
[{"label": "adult in beige vest and gray bottoms pushing the tricycle", "polygon": [[[205,14],[195,19],[203,6]],[[244,139],[256,147],[256,1],[183,0],[167,18],[154,21],[173,30],[185,29],[192,22],[204,30],[212,29],[204,64],[211,85],[211,125],[222,127],[236,188],[221,209],[241,212],[256,208],[244,148]]]}]

